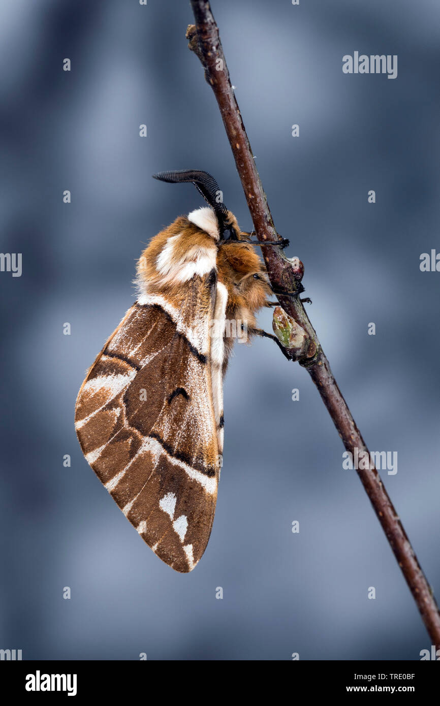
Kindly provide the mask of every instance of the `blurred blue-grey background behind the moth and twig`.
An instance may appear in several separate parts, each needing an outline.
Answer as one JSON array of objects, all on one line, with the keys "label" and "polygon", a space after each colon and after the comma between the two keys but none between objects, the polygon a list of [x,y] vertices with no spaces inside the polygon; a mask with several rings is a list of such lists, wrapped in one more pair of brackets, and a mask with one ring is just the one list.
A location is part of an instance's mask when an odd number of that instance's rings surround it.
[{"label": "blurred blue-grey background behind the moth and twig", "polygon": [[[383,480],[439,593],[440,274],[419,268],[440,248],[439,3],[213,0],[213,12],[275,224],[304,261],[309,316],[370,449],[398,451]],[[231,361],[218,509],[193,573],[145,546],[76,440],[76,394],[134,301],[143,244],[203,205],[150,175],[207,170],[251,229],[186,48],[191,21],[177,0],[0,5],[1,251],[23,253],[21,277],[0,273],[0,647],[419,659],[429,637],[338,433],[272,342]],[[343,75],[355,50],[398,54],[398,78]],[[269,311],[260,321],[271,330]]]}]

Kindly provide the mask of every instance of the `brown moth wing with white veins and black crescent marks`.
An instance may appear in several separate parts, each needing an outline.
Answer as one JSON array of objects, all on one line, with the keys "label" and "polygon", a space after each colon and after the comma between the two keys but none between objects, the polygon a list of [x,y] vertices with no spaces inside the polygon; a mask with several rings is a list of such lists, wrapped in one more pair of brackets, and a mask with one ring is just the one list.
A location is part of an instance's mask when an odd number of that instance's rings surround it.
[{"label": "brown moth wing with white veins and black crescent marks", "polygon": [[182,572],[208,544],[220,475],[221,389],[213,400],[210,364],[215,285],[215,271],[194,277],[178,309],[164,295],[144,294],[76,402],[86,460],[155,554]]}]

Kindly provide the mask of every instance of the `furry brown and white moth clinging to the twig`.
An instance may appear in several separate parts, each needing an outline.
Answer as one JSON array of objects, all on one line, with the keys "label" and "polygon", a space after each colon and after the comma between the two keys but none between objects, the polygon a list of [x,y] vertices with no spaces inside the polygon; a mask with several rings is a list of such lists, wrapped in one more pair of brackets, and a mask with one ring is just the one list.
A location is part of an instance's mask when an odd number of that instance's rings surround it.
[{"label": "furry brown and white moth clinging to the twig", "polygon": [[85,459],[138,534],[174,570],[208,544],[223,451],[223,377],[235,340],[256,328],[270,284],[207,172],[192,182],[207,206],[179,216],[137,263],[137,301],[88,370],[75,426]]}]

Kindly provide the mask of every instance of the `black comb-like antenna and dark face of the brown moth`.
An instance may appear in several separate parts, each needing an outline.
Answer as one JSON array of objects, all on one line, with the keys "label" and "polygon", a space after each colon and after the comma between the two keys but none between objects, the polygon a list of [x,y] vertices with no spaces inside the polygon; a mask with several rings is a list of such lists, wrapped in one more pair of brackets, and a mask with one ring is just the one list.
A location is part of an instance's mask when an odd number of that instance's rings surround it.
[{"label": "black comb-like antenna and dark face of the brown moth", "polygon": [[219,241],[239,240],[240,229],[234,214],[223,203],[223,192],[214,177],[198,169],[182,169],[174,172],[153,174],[153,179],[167,181],[169,184],[190,182],[201,193],[206,203],[213,209],[218,222]]}]

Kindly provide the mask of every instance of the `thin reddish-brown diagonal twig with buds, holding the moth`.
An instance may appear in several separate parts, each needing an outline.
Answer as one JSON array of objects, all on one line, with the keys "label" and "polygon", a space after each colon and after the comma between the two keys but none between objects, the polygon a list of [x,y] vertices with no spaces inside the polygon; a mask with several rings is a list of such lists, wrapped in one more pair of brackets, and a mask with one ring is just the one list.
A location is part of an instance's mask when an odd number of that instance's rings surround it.
[{"label": "thin reddish-brown diagonal twig with buds, holding the moth", "polygon": [[[189,48],[200,59],[205,69],[206,80],[217,99],[235,164],[242,181],[244,195],[254,222],[256,237],[261,242],[276,241],[279,236],[275,225],[273,225],[266,194],[256,170],[251,145],[232,90],[218,26],[208,2],[191,0],[191,6],[196,25],[189,25],[186,33],[189,39]],[[273,288],[277,291],[294,292],[294,294],[278,294],[284,311],[293,319],[293,321],[290,320],[292,335],[288,338],[290,342],[287,342],[288,354],[309,371],[347,451],[354,455],[355,448],[357,448],[359,455],[362,452],[369,454],[350,409],[348,409],[336,384],[315,330],[304,311],[299,296],[297,296],[300,287],[295,268],[280,248],[262,247],[261,251]],[[278,320],[283,320],[283,316],[287,320],[283,312],[278,310]],[[398,514],[393,508],[393,503],[391,503],[381,478],[372,464],[370,469],[357,470],[357,474],[410,587],[432,643],[436,645],[436,649],[440,649],[439,609]]]}]

